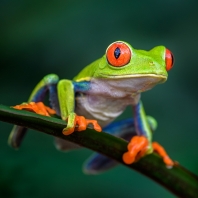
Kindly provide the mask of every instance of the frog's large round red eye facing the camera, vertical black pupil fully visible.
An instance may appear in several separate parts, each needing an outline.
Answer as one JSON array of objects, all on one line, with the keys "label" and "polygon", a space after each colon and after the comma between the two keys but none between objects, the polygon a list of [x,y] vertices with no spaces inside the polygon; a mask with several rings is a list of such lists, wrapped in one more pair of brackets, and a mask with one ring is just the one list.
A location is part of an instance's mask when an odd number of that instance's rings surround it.
[{"label": "frog's large round red eye facing the camera, vertical black pupil fully visible", "polygon": [[125,43],[115,42],[107,48],[106,56],[109,64],[114,67],[122,67],[129,63],[131,50]]}]

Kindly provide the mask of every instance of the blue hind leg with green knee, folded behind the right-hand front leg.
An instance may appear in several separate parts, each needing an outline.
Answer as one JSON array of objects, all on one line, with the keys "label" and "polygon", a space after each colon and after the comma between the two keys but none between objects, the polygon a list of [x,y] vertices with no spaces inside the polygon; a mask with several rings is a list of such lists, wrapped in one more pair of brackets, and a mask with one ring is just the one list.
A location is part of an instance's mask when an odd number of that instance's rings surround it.
[{"label": "blue hind leg with green knee, folded behind the right-hand front leg", "polygon": [[[149,126],[152,131],[157,127],[154,118],[147,117]],[[132,118],[121,120],[118,122],[113,122],[107,127],[103,128],[103,131],[121,137],[127,141],[131,139],[132,136],[136,135],[134,120]],[[115,167],[118,164],[115,160],[112,160],[102,154],[94,153],[84,164],[83,171],[86,174],[99,174],[110,168]]]}]

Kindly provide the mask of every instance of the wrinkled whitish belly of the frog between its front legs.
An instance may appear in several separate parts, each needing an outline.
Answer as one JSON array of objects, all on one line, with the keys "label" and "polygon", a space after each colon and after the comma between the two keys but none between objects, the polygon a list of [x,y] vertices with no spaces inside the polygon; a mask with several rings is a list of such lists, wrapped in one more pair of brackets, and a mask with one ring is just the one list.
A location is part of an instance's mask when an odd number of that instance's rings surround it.
[{"label": "wrinkled whitish belly of the frog between its front legs", "polygon": [[87,119],[95,119],[101,127],[118,117],[128,105],[136,104],[140,94],[131,90],[126,81],[94,80],[87,93],[76,98],[75,112]]}]

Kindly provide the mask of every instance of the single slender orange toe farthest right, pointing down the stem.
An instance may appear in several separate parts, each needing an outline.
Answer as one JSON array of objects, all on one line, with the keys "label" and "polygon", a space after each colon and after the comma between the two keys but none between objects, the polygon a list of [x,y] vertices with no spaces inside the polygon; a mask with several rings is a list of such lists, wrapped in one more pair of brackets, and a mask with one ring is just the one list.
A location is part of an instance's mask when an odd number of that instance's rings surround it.
[{"label": "single slender orange toe farthest right, pointing down the stem", "polygon": [[172,168],[174,166],[174,162],[170,159],[164,148],[157,142],[153,142],[152,146],[153,146],[153,150],[162,157],[166,166],[168,168]]}]

